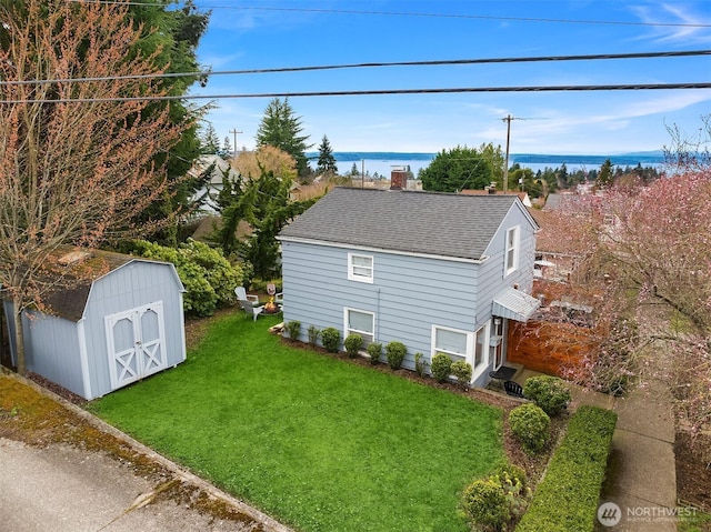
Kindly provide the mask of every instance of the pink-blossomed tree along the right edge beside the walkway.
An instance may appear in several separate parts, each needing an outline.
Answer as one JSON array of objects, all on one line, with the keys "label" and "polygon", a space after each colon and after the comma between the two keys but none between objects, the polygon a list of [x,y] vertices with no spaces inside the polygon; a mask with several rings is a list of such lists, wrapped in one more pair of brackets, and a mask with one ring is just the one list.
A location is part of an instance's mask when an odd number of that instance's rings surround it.
[{"label": "pink-blossomed tree along the right edge beside the walkway", "polygon": [[670,177],[557,215],[578,254],[564,292],[598,309],[598,342],[570,374],[600,389],[662,380],[680,426],[698,433],[711,422],[711,167],[682,151]]}]

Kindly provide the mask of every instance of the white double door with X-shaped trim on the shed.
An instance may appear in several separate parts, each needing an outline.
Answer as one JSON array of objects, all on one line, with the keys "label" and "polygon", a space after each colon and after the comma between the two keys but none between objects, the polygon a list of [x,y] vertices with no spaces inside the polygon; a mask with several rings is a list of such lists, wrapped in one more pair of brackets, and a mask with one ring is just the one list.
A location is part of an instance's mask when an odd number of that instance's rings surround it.
[{"label": "white double door with X-shaped trim on the shed", "polygon": [[104,322],[112,390],[166,369],[162,301],[107,315]]}]

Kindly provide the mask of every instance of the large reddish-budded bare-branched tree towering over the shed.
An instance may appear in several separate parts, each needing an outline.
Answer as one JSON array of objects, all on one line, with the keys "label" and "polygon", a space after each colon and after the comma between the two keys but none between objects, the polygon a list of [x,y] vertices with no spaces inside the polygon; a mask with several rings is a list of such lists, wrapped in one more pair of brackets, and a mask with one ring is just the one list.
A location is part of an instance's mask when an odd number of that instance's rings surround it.
[{"label": "large reddish-budded bare-branched tree towering over the shed", "polygon": [[[42,308],[63,273],[52,253],[119,237],[116,228],[146,229],[130,220],[164,193],[153,155],[192,126],[143,112],[146,97],[164,89],[136,78],[161,72],[137,51],[142,28],[127,13],[123,2],[0,7],[0,283],[13,303],[20,373],[21,313]],[[78,78],[90,80],[67,81]]]}]

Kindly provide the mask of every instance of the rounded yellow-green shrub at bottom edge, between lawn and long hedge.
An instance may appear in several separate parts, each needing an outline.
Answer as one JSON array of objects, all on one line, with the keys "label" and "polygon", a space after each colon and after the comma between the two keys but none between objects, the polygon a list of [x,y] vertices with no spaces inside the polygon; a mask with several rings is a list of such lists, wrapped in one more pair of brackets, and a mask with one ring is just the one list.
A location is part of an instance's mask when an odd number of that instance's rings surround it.
[{"label": "rounded yellow-green shrub at bottom edge, between lawn and long hedge", "polygon": [[468,520],[482,531],[499,531],[511,519],[509,501],[495,478],[475,480],[462,495],[462,509]]}]

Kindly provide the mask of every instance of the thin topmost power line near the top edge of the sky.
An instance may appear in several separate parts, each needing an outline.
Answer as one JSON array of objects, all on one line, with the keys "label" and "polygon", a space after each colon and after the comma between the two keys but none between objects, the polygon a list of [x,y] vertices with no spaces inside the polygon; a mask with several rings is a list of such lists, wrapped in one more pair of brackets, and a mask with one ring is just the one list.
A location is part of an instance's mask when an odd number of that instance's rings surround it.
[{"label": "thin topmost power line near the top edge of the sky", "polygon": [[[117,2],[111,0],[69,0],[79,3],[120,3],[126,6],[166,7],[156,2]],[[363,11],[353,9],[316,9],[316,8],[268,8],[256,6],[206,6],[200,9],[231,9],[240,11],[279,11],[279,12],[302,12],[321,14],[368,14],[379,17],[424,17],[442,19],[473,19],[473,20],[503,20],[518,22],[552,22],[565,24],[602,24],[602,26],[642,26],[642,27],[667,27],[667,28],[711,28],[711,24],[688,23],[688,22],[627,22],[619,20],[575,20],[575,19],[548,19],[535,17],[495,17],[490,14],[463,14],[463,13],[418,13],[408,11]]]}]

